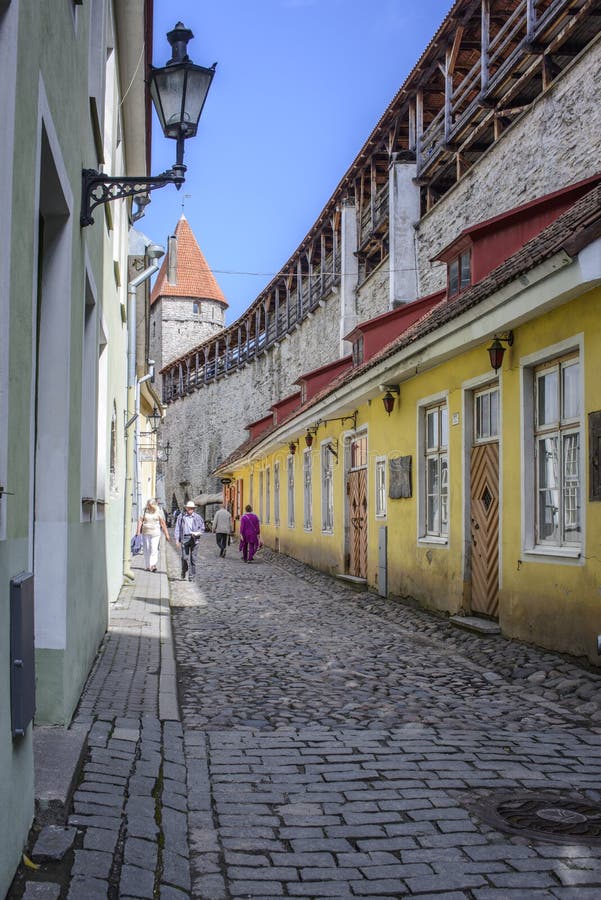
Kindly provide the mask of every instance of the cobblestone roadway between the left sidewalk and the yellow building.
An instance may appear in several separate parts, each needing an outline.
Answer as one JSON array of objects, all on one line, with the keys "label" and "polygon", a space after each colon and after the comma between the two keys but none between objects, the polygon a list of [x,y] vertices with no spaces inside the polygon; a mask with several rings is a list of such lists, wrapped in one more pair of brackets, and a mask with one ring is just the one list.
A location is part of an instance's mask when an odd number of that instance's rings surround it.
[{"label": "cobblestone roadway between the left sidewalk and the yellow building", "polygon": [[[584,842],[572,808],[601,800],[598,674],[267,550],[200,554],[172,581],[193,896],[598,900],[601,809]],[[533,798],[529,831],[487,824]]]}]

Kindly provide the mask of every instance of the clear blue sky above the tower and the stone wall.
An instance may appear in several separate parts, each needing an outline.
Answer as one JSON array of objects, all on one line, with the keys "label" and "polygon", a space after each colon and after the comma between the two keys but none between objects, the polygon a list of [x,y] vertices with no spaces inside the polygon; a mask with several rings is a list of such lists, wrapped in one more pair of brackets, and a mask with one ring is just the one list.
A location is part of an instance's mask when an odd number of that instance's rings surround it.
[{"label": "clear blue sky above the tower and the stone wall", "polygon": [[[188,52],[217,71],[186,183],[153,192],[137,227],[166,245],[182,212],[231,324],[326,205],[451,0],[155,0],[153,62],[181,20]],[[152,174],[175,162],[156,119]]]}]

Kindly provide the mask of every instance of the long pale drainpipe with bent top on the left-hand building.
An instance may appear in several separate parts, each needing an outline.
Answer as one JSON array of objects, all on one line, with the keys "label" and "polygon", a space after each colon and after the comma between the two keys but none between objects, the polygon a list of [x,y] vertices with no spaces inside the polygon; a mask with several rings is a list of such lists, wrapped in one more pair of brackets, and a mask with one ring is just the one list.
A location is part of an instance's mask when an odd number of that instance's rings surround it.
[{"label": "long pale drainpipe with bent top on the left-hand building", "polygon": [[[165,251],[158,244],[149,244],[146,248],[146,256],[148,259],[157,260],[163,256]],[[134,472],[135,472],[135,456],[137,452],[137,429],[132,430],[132,426],[138,417],[136,410],[136,296],[137,289],[144,281],[147,281],[155,272],[158,272],[159,265],[152,262],[143,272],[140,272],[133,281],[127,285],[127,407],[125,415],[125,504],[123,514],[123,576],[129,581],[134,580],[134,573],[131,570],[130,559],[131,550],[130,543],[133,528],[133,506],[134,506]]]}]

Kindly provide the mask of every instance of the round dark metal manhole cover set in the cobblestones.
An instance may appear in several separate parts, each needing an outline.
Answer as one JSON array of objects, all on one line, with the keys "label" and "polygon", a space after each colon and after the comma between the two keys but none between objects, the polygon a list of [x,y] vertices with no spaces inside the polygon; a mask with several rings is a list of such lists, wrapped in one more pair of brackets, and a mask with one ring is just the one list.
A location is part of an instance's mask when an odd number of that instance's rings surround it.
[{"label": "round dark metal manhole cover set in the cobblestones", "polygon": [[557,843],[601,844],[601,804],[566,794],[496,794],[475,812],[494,828]]}]

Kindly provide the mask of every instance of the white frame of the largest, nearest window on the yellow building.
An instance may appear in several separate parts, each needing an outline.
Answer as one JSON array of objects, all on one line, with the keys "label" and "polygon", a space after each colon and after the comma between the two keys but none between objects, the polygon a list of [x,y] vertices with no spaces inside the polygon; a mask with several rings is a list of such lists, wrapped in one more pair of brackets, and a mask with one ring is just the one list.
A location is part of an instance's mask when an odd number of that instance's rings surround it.
[{"label": "white frame of the largest, nearest window on the yellow building", "polygon": [[[537,438],[543,434],[544,429],[537,432],[536,415],[537,403],[535,385],[537,370],[545,363],[552,364],[565,357],[574,355],[578,357],[579,377],[578,396],[580,398],[580,412],[577,419],[564,424],[564,433],[579,431],[579,471],[580,471],[580,516],[581,536],[580,541],[569,543],[553,543],[537,540]],[[575,335],[565,341],[560,341],[551,347],[547,347],[538,353],[531,354],[520,360],[521,384],[522,384],[522,472],[524,473],[522,492],[522,553],[529,559],[540,562],[559,562],[566,564],[584,565],[583,548],[586,542],[586,435],[584,430],[584,338],[582,334]],[[550,433],[550,432],[549,432]],[[558,433],[561,430],[558,429]],[[561,488],[560,488],[561,491]]]}]

